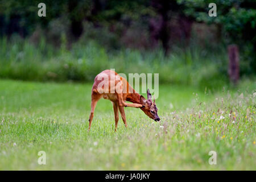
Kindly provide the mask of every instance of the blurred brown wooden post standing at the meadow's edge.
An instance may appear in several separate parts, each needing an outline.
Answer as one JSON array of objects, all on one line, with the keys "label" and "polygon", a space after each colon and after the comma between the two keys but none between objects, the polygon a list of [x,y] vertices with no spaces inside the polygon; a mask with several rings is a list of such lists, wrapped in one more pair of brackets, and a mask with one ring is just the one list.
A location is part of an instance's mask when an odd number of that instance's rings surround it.
[{"label": "blurred brown wooden post standing at the meadow's edge", "polygon": [[236,44],[228,46],[229,53],[229,79],[236,85],[239,80],[239,50]]}]

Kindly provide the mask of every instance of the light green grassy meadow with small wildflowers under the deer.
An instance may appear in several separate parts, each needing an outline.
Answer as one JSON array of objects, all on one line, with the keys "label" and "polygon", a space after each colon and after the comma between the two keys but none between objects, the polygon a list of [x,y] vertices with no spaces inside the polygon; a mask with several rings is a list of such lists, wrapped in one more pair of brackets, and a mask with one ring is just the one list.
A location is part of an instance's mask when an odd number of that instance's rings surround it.
[{"label": "light green grassy meadow with small wildflowers under the deer", "polygon": [[0,80],[0,169],[256,169],[255,82],[215,92],[160,85],[162,121],[126,108],[128,128],[120,118],[117,133],[108,100],[88,133],[91,86]]}]

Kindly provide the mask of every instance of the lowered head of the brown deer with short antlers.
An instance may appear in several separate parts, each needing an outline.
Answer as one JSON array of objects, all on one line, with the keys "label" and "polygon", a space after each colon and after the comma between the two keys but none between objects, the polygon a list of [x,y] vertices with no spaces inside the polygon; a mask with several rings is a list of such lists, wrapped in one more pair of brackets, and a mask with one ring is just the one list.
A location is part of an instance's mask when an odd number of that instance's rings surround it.
[{"label": "lowered head of the brown deer with short antlers", "polygon": [[155,105],[155,99],[154,101],[152,101],[149,89],[147,89],[147,100],[143,96],[141,96],[140,100],[143,106],[141,107],[141,110],[143,110],[143,112],[151,119],[154,119],[155,121],[160,121],[160,118],[158,116],[158,107],[156,107]]}]

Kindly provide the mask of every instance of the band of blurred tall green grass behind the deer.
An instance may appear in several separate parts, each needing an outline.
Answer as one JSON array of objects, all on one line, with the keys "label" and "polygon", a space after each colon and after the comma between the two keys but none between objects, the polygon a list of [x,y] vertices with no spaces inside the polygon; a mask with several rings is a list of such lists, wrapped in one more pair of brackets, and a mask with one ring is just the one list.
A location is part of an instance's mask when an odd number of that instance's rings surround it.
[{"label": "band of blurred tall green grass behind the deer", "polygon": [[0,77],[33,81],[93,81],[104,69],[118,73],[159,73],[160,83],[223,86],[227,83],[225,50],[216,53],[199,47],[108,52],[93,41],[80,40],[70,49],[41,38],[38,44],[13,36],[0,39]]}]

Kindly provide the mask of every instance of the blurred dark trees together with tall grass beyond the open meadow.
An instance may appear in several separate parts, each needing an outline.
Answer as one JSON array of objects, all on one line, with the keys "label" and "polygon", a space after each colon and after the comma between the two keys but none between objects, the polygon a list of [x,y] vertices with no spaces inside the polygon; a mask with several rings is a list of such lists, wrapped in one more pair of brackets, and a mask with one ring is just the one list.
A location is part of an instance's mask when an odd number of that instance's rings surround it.
[{"label": "blurred dark trees together with tall grass beyond the open meadow", "polygon": [[225,82],[229,44],[240,48],[241,75],[255,74],[253,0],[44,0],[46,17],[40,2],[0,0],[0,77],[92,81],[115,68],[159,72],[162,82]]}]

